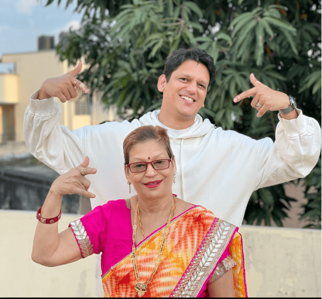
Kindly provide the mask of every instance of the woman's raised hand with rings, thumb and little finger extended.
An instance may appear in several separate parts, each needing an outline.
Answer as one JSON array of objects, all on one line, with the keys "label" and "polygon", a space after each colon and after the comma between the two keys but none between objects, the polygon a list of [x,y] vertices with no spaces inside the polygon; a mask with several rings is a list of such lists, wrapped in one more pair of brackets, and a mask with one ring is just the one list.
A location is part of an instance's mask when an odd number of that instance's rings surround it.
[{"label": "woman's raised hand with rings, thumb and little finger extended", "polygon": [[95,174],[96,168],[88,167],[90,163],[89,157],[85,157],[84,161],[77,167],[72,168],[67,173],[59,176],[50,188],[58,196],[65,194],[80,194],[89,198],[94,198],[96,195],[88,192],[90,180],[85,177],[87,174]]}]

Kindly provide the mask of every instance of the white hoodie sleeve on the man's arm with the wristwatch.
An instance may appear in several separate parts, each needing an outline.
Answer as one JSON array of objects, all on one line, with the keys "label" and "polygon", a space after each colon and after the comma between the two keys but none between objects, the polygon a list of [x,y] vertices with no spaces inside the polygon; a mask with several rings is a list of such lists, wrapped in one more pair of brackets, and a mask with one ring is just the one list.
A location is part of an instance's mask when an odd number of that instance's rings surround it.
[{"label": "white hoodie sleeve on the man's arm with the wristwatch", "polygon": [[307,176],[317,164],[321,151],[318,122],[298,110],[298,118],[279,117],[275,143],[264,138],[257,158],[255,188],[271,186]]}]

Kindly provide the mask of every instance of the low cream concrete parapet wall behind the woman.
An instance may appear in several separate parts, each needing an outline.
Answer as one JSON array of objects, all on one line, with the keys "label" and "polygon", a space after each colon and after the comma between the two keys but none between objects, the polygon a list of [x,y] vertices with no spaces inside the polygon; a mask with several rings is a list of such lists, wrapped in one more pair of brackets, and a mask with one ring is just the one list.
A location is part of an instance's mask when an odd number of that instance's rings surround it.
[{"label": "low cream concrete parapet wall behind the woman", "polygon": [[[81,215],[62,214],[59,231]],[[95,255],[54,268],[31,260],[35,211],[0,210],[0,297],[97,297]],[[321,231],[242,226],[249,297],[321,297]]]}]

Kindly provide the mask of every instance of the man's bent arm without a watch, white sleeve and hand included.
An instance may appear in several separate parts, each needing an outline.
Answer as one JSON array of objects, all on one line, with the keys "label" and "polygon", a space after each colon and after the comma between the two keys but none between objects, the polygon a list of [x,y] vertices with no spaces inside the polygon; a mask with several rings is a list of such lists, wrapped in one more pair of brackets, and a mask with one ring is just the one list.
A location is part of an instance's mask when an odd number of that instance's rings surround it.
[{"label": "man's bent arm without a watch, white sleeve and hand included", "polygon": [[78,165],[86,155],[84,129],[70,132],[60,126],[61,108],[53,99],[58,97],[65,102],[75,98],[75,88],[88,93],[88,88],[75,78],[81,67],[80,62],[74,70],[45,80],[40,90],[33,93],[24,115],[24,138],[30,152],[60,174]]}]

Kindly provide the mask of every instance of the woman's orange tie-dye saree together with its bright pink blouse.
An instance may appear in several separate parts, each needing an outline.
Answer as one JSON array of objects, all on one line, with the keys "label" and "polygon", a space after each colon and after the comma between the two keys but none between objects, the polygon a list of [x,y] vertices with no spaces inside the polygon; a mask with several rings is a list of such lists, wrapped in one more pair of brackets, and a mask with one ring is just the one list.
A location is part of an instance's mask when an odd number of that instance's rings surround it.
[{"label": "woman's orange tie-dye saree together with its bright pink blouse", "polygon": [[[137,297],[132,259],[130,201],[109,201],[71,222],[82,257],[100,253],[104,297]],[[140,282],[153,273],[166,225],[136,246]],[[147,285],[147,297],[209,297],[208,281],[230,255],[236,297],[247,297],[242,236],[231,223],[194,206],[170,222],[161,262]],[[231,267],[230,267],[231,268]],[[230,269],[229,268],[229,269]],[[220,275],[219,272],[223,272]]]}]

